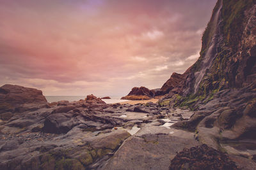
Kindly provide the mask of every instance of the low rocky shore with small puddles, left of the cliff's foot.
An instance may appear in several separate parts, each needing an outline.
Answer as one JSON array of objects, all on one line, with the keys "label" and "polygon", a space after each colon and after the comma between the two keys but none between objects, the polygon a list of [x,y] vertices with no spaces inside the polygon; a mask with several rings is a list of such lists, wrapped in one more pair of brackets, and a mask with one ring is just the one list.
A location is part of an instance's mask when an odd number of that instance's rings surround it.
[{"label": "low rocky shore with small puddles, left of the cliff's foot", "polygon": [[[18,86],[8,87],[12,93]],[[106,104],[93,95],[47,103],[40,96],[35,103],[10,103],[12,110],[1,103],[0,115],[12,117],[0,122],[0,169],[168,169],[177,152],[201,145],[194,132],[173,128],[194,111]]]}]

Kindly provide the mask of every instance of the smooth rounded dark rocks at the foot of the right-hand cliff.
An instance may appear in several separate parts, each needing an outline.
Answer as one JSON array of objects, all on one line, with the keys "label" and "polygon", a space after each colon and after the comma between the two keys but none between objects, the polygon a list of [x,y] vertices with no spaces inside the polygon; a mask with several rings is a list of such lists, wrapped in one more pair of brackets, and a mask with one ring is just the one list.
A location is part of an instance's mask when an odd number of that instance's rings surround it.
[{"label": "smooth rounded dark rocks at the foot of the right-hand cliff", "polygon": [[216,92],[208,103],[195,104],[198,110],[189,120],[182,120],[171,127],[195,132],[195,139],[227,152],[239,168],[255,169],[256,128],[253,115],[256,93],[253,89],[255,85],[251,84],[243,89]]}]

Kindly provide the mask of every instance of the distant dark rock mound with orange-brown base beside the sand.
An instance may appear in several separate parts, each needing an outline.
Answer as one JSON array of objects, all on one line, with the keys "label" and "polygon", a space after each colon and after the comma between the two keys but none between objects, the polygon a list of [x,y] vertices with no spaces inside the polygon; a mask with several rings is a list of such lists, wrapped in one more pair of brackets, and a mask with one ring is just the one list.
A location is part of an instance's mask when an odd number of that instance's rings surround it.
[{"label": "distant dark rock mound with orange-brown base beside the sand", "polygon": [[149,100],[156,94],[155,90],[149,90],[147,87],[133,87],[131,92],[121,99],[127,100]]}]

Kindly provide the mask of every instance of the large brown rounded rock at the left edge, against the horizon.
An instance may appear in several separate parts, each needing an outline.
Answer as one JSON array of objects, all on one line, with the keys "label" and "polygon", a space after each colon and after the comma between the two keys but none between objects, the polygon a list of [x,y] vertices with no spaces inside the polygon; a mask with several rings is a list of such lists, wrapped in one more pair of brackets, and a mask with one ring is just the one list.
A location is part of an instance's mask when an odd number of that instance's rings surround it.
[{"label": "large brown rounded rock at the left edge, against the horizon", "polygon": [[47,100],[41,90],[6,84],[0,87],[0,103],[17,105],[47,103]]}]

